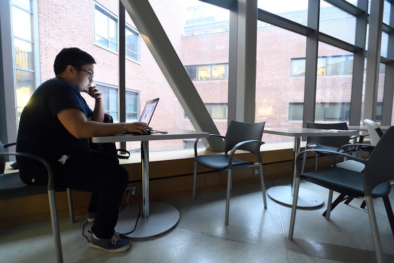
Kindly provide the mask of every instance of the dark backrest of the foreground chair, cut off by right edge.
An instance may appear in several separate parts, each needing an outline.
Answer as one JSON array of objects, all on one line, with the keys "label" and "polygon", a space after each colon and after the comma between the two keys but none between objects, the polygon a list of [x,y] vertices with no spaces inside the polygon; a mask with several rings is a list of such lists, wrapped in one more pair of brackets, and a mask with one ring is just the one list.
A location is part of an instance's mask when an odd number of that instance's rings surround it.
[{"label": "dark backrest of the foreground chair, cut off by right edge", "polygon": [[394,126],[391,126],[371,152],[364,169],[365,195],[377,185],[394,179]]}]

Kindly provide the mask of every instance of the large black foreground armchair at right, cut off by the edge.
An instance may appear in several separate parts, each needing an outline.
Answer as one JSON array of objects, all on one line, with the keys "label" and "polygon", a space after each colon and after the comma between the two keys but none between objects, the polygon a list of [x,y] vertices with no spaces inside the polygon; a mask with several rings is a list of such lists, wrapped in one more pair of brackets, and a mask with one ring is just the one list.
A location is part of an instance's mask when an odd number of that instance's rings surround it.
[{"label": "large black foreground armchair at right, cut off by the edge", "polygon": [[308,151],[298,154],[296,158],[296,184],[294,200],[289,229],[289,239],[293,239],[294,225],[296,220],[296,208],[298,200],[298,190],[300,178],[306,181],[329,189],[328,208],[326,219],[329,220],[330,205],[333,191],[353,197],[365,197],[368,210],[369,222],[372,230],[372,238],[375,246],[377,262],[383,262],[382,249],[380,245],[379,232],[376,224],[375,212],[372,198],[382,197],[389,218],[390,226],[394,236],[394,215],[389,200],[391,191],[390,180],[394,179],[394,126],[383,135],[368,159],[350,155],[343,152],[324,150],[325,152],[344,156],[352,160],[359,161],[365,165],[362,173],[353,170],[343,169],[333,165],[332,167],[319,169],[308,173],[301,173],[299,167],[300,159]]}]

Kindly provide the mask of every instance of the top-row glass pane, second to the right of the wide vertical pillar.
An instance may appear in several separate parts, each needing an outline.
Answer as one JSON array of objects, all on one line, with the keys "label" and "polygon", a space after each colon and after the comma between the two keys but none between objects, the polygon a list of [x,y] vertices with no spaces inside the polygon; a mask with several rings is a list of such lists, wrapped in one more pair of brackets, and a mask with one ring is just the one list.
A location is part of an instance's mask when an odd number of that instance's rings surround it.
[{"label": "top-row glass pane, second to the right of the wide vertical pillar", "polygon": [[319,31],[348,43],[355,43],[356,17],[341,9],[320,1]]}]

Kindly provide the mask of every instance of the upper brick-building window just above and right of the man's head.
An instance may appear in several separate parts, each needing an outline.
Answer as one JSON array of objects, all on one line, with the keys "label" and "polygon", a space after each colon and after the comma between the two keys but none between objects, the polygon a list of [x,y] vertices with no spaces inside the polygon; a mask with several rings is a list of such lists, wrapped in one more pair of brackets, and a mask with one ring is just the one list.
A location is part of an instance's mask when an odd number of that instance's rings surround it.
[{"label": "upper brick-building window just above and right of the man's head", "polygon": [[95,4],[95,43],[114,52],[118,51],[118,19]]}]

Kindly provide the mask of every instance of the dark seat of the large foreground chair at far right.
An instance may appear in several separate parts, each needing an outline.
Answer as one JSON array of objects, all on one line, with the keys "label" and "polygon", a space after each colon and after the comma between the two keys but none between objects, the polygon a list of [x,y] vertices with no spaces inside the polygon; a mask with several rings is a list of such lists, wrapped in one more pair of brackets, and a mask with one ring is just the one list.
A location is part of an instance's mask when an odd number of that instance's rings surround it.
[{"label": "dark seat of the large foreground chair at far right", "polygon": [[[316,185],[344,193],[353,197],[364,196],[362,173],[339,168],[328,167],[301,174],[301,177]],[[390,193],[389,182],[382,183],[372,191],[372,197],[383,197]]]}]

